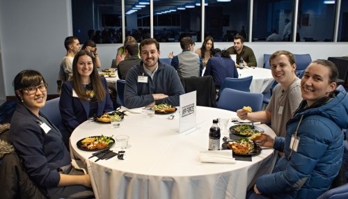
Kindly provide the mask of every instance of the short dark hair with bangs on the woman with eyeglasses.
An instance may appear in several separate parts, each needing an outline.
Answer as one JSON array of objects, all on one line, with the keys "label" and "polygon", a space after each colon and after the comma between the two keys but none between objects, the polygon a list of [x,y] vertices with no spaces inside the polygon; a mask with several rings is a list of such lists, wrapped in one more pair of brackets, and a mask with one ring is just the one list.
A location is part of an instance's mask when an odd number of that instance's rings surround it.
[{"label": "short dark hair with bangs on the woman with eyeglasses", "polygon": [[[15,88],[15,91],[19,90],[19,92],[22,93],[21,89],[31,86],[39,86],[42,82],[46,83],[44,77],[40,72],[36,70],[22,70],[16,75],[15,79],[13,80],[13,87]],[[15,92],[15,95],[19,102],[21,102],[21,98],[19,97],[19,95],[17,95],[17,92]]]}]

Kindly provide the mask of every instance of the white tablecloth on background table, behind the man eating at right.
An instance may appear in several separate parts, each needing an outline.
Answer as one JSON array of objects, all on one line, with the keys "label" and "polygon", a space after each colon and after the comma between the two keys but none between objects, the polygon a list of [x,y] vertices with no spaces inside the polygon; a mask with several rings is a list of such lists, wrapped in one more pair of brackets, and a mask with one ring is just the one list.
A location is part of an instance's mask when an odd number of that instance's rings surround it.
[{"label": "white tablecloth on background table, behind the man eating at right", "polygon": [[251,93],[268,92],[274,79],[271,70],[263,67],[245,67],[244,69],[237,69],[239,77],[253,76],[250,85]]}]

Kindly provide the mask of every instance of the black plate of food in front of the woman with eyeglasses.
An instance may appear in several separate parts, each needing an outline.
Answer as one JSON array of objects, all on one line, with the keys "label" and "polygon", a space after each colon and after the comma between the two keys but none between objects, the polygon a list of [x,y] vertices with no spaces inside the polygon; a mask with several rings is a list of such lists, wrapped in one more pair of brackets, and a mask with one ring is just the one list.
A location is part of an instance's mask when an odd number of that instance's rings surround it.
[{"label": "black plate of food in front of the woman with eyeglasses", "polygon": [[86,151],[104,150],[115,143],[112,136],[90,136],[77,142],[77,148]]}]

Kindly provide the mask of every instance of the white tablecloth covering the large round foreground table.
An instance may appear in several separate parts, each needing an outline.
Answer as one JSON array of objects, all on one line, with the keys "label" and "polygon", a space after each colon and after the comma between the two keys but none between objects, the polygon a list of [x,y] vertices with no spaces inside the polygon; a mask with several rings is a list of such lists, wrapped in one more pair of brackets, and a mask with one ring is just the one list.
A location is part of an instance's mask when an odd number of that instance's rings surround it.
[{"label": "white tablecloth covering the large round foreground table", "polygon": [[[142,108],[126,111],[119,128],[88,120],[70,136],[70,153],[88,169],[95,198],[245,198],[255,178],[270,173],[276,155],[262,149],[251,161],[207,163],[200,152],[207,152],[209,128],[216,118],[229,118],[228,129],[221,130],[221,143],[229,136],[235,112],[196,106],[196,130],[179,133],[179,111],[171,115],[146,116]],[[265,134],[275,136],[267,125]],[[93,152],[80,150],[77,142],[88,136],[128,135],[124,159],[113,157],[96,161]],[[117,143],[110,150],[118,152]],[[219,151],[218,151],[219,152]],[[221,150],[230,154],[231,150]],[[228,155],[229,156],[229,155]]]}]

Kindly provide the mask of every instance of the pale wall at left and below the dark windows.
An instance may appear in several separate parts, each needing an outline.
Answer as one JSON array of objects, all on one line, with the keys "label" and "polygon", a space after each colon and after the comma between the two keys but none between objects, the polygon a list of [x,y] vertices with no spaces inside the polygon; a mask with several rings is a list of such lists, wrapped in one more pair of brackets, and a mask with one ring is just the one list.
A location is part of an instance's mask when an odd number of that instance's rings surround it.
[{"label": "pale wall at left and below the dark windows", "polygon": [[[63,42],[72,34],[70,0],[0,0],[0,100],[15,95],[12,81],[24,69],[42,72],[49,83],[48,94],[56,93],[59,64],[65,54]],[[98,45],[102,68],[110,67],[117,45]],[[214,44],[227,49],[231,43]],[[311,54],[313,59],[347,56],[348,43],[245,43],[252,47],[262,67],[263,54],[286,49],[294,54]],[[196,48],[201,43],[196,43]],[[161,43],[161,58],[169,52],[180,53],[179,43]],[[1,72],[3,76],[1,77]],[[4,85],[4,90],[3,86]]]}]

